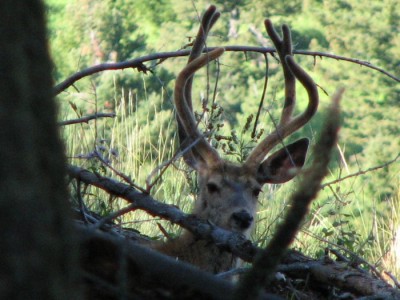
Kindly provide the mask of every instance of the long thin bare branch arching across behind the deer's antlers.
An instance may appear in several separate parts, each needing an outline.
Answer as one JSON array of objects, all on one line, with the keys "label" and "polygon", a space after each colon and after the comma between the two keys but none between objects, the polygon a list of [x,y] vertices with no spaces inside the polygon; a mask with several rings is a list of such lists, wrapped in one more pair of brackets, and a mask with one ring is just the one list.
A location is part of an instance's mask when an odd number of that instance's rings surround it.
[{"label": "long thin bare branch arching across behind the deer's antlers", "polygon": [[[261,53],[261,54],[276,52],[276,50],[274,48],[268,48],[268,47],[254,47],[254,46],[222,46],[222,47],[225,49],[225,51],[230,51],[230,52],[244,52],[244,53],[255,52],[255,53]],[[205,52],[210,52],[214,49],[216,49],[216,47],[205,48]],[[150,55],[142,56],[142,57],[139,57],[136,59],[127,60],[127,61],[118,62],[118,63],[99,64],[99,65],[96,65],[93,67],[86,68],[82,71],[79,71],[79,72],[71,75],[64,81],[57,84],[54,87],[53,92],[55,95],[58,95],[59,93],[66,90],[68,87],[72,86],[78,80],[80,80],[84,77],[102,72],[102,71],[106,71],[106,70],[123,70],[123,69],[133,68],[133,69],[137,69],[138,71],[146,71],[148,69],[144,66],[145,62],[154,61],[154,60],[165,60],[165,59],[173,58],[173,57],[188,56],[190,54],[190,51],[191,50],[159,52],[159,53],[154,53],[154,54],[150,54]],[[390,77],[391,79],[393,79],[397,82],[400,82],[400,78],[385,71],[382,68],[374,66],[373,64],[369,63],[368,61],[349,58],[349,57],[340,56],[340,55],[333,55],[333,54],[318,52],[318,51],[294,50],[293,53],[299,54],[299,55],[313,56],[314,58],[326,57],[326,58],[331,58],[331,59],[335,59],[335,60],[347,61],[350,63],[358,64],[358,65],[373,69],[375,71],[378,71],[378,72],[384,74],[385,76]]]}]

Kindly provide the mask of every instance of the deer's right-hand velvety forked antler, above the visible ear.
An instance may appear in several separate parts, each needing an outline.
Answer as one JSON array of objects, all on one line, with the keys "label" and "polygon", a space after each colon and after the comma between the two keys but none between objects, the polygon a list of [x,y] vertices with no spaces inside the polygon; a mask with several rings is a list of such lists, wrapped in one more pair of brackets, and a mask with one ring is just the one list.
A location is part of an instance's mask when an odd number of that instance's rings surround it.
[{"label": "deer's right-hand velvety forked antler, above the visible ear", "polygon": [[[275,45],[282,63],[285,78],[285,103],[277,128],[273,133],[264,138],[250,153],[245,162],[248,166],[259,165],[273,147],[303,127],[317,111],[319,101],[318,90],[314,81],[293,59],[292,39],[289,27],[286,25],[282,26],[283,39],[279,37],[269,19],[265,20],[265,28]],[[307,90],[309,102],[302,114],[293,117],[292,114],[296,103],[296,78]]]}]

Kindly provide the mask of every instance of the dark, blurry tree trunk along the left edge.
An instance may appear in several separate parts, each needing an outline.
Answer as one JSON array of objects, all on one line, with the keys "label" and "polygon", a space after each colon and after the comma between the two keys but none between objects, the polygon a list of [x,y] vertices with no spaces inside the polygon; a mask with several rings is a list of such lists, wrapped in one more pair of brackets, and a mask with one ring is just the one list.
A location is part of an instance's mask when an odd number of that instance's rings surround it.
[{"label": "dark, blurry tree trunk along the left edge", "polygon": [[0,1],[0,299],[76,299],[65,163],[39,0]]}]

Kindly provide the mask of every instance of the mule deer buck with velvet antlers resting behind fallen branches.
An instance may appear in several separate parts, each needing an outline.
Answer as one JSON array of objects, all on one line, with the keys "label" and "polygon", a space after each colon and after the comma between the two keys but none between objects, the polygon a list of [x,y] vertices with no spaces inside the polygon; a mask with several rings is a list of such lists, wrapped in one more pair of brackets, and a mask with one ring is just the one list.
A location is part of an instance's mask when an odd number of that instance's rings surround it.
[{"label": "mule deer buck with velvet antlers resting behind fallen branches", "polygon": [[[198,173],[199,194],[193,214],[219,227],[249,237],[254,226],[257,197],[265,183],[279,184],[291,180],[303,166],[309,141],[300,139],[264,160],[267,153],[283,139],[303,127],[318,107],[318,91],[313,80],[292,58],[290,30],[282,27],[281,39],[269,20],[266,30],[279,54],[285,79],[285,102],[275,131],[265,137],[242,165],[223,160],[197,128],[194,118],[191,90],[193,75],[210,61],[224,53],[217,48],[201,55],[211,27],[219,18],[211,6],[204,14],[188,64],[180,72],[175,85],[175,106],[181,149],[195,144],[184,155],[185,162]],[[309,103],[305,111],[293,117],[296,98],[296,78],[305,87]],[[197,142],[197,143],[196,143]],[[231,253],[205,240],[198,240],[185,232],[176,240],[163,244],[159,250],[177,259],[192,263],[203,270],[218,273],[237,263]]]}]

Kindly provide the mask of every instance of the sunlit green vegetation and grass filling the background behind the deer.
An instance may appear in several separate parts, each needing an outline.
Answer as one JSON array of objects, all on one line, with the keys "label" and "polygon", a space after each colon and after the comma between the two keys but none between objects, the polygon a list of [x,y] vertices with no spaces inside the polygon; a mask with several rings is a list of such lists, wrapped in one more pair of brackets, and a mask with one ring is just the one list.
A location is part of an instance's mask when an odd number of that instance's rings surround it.
[{"label": "sunlit green vegetation and grass filling the background behind the deer", "polygon": [[[195,36],[199,14],[210,4],[189,0],[47,0],[54,79],[60,82],[78,70],[185,47]],[[397,0],[243,0],[214,1],[222,12],[208,39],[209,46],[272,46],[263,20],[288,24],[297,50],[312,50],[366,60],[400,77],[400,10]],[[326,182],[382,165],[399,155],[400,84],[360,65],[311,56],[296,56],[320,86],[320,112],[293,138],[314,136],[330,95],[345,87],[343,128]],[[71,161],[117,177],[94,156],[128,174],[140,186],[157,166],[176,152],[172,91],[185,58],[146,64],[152,72],[107,71],[85,78],[58,97],[60,119],[98,112],[116,112],[115,119],[63,128]],[[258,133],[273,130],[283,97],[279,64],[268,57],[269,84]],[[241,160],[254,141],[246,120],[257,112],[265,79],[265,59],[253,53],[226,53],[216,67],[199,72],[193,93],[202,124],[218,128],[225,139],[214,140],[228,159]],[[298,111],[306,105],[299,88]],[[207,101],[208,102],[207,102]],[[203,103],[208,103],[208,109]],[[214,109],[210,107],[214,102]],[[211,112],[212,111],[212,112]],[[204,114],[204,112],[206,112]],[[312,153],[311,153],[312,155]],[[157,172],[156,172],[157,173]],[[181,161],[169,167],[152,188],[156,199],[190,211],[196,191],[194,175]],[[154,177],[153,177],[154,178]],[[395,231],[400,223],[399,161],[379,170],[326,186],[314,203],[299,235],[297,248],[310,255],[332,245],[362,255],[396,272]],[[284,214],[295,182],[264,188],[254,240],[268,240]],[[91,189],[85,199],[101,214],[124,206]],[[157,222],[170,232],[179,229],[144,213],[119,219],[151,236],[162,236]],[[333,243],[329,244],[327,242]],[[400,250],[400,249],[399,249]],[[347,253],[348,254],[348,253]]]}]

